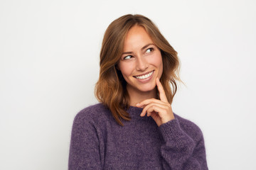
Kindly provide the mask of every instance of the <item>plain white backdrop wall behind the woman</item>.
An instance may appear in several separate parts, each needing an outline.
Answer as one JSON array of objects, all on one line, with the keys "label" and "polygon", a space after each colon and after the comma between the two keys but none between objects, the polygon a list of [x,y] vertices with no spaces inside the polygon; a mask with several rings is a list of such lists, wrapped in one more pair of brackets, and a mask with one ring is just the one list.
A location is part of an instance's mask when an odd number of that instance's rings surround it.
[{"label": "plain white backdrop wall behind the woman", "polygon": [[256,2],[0,1],[0,169],[68,169],[73,119],[97,103],[107,26],[151,18],[178,52],[175,113],[203,131],[209,169],[256,169]]}]

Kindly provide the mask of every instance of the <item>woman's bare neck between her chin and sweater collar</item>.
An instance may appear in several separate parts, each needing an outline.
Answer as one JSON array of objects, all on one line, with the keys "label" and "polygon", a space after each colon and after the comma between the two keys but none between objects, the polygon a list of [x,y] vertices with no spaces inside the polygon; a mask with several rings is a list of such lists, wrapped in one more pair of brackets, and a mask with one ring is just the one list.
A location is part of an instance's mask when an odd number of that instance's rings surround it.
[{"label": "woman's bare neck between her chin and sweater collar", "polygon": [[137,103],[142,102],[149,98],[157,98],[156,88],[151,91],[137,91],[127,86],[127,92],[129,94],[130,106],[135,106]]}]

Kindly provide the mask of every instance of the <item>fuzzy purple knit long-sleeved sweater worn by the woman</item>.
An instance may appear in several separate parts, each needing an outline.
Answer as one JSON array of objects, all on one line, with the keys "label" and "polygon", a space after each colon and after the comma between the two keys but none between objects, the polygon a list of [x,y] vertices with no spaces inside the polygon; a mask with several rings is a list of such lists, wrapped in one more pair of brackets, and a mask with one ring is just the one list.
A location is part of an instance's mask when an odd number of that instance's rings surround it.
[{"label": "fuzzy purple knit long-sleeved sweater worn by the woman", "polygon": [[131,106],[132,120],[116,123],[101,103],[75,116],[68,169],[208,169],[203,134],[174,114],[160,127],[142,108]]}]

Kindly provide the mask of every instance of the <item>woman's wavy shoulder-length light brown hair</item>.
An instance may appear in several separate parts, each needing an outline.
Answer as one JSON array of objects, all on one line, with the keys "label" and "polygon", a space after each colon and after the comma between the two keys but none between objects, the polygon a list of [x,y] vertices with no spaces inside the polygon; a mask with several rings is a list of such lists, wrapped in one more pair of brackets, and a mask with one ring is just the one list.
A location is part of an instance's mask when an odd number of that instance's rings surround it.
[{"label": "woman's wavy shoulder-length light brown hair", "polygon": [[122,56],[127,32],[135,25],[142,26],[161,51],[163,73],[160,81],[164,86],[169,103],[172,103],[177,91],[176,81],[180,80],[178,77],[179,60],[177,52],[149,18],[142,15],[128,14],[114,20],[108,26],[102,41],[100,77],[95,86],[95,96],[98,101],[110,109],[119,125],[123,125],[122,119],[130,120],[130,117],[127,113],[127,108],[129,108],[127,83],[122,77],[122,73],[117,69],[117,64]]}]

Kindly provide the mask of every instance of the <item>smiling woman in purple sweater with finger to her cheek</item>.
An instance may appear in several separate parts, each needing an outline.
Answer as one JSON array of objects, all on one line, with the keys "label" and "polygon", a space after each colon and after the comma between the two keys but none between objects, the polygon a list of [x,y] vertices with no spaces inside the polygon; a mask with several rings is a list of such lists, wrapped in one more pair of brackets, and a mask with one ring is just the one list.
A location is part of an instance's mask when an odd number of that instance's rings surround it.
[{"label": "smiling woman in purple sweater with finger to her cheek", "polygon": [[100,52],[100,103],[75,117],[69,169],[208,169],[201,130],[171,109],[178,66],[149,18],[113,21]]}]

